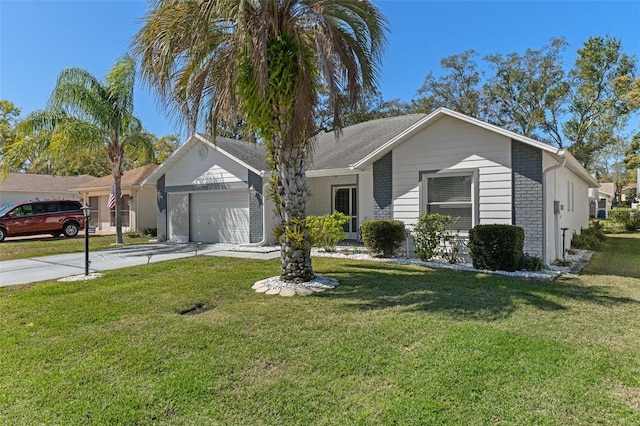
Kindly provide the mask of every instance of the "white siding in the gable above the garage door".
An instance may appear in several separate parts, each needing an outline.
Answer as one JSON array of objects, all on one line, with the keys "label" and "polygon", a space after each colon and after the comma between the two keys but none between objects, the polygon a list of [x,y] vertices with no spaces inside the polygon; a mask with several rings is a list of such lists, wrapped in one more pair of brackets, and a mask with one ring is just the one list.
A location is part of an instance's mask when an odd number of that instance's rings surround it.
[{"label": "white siding in the gable above the garage door", "polygon": [[247,169],[219,151],[207,147],[207,155],[202,158],[199,151],[204,146],[202,143],[194,145],[188,153],[167,171],[166,181],[168,185],[223,184],[247,181]]}]

